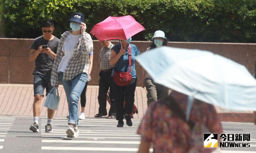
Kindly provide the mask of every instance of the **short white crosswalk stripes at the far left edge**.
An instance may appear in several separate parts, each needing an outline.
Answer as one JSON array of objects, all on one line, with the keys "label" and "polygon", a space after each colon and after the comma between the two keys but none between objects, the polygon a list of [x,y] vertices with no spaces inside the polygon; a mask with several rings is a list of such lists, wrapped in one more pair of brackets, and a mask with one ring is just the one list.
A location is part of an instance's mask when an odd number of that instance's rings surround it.
[{"label": "short white crosswalk stripes at the far left edge", "polygon": [[4,148],[4,138],[12,127],[14,117],[0,117],[0,149]]}]

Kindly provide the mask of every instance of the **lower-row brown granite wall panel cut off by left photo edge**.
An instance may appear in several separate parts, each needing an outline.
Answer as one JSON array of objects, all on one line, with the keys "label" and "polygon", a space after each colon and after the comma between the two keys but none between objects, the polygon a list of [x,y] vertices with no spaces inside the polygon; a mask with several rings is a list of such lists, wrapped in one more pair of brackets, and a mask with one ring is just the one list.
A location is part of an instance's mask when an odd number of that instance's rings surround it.
[{"label": "lower-row brown granite wall panel cut off by left photo edge", "polygon": [[0,83],[9,83],[9,57],[0,56]]}]

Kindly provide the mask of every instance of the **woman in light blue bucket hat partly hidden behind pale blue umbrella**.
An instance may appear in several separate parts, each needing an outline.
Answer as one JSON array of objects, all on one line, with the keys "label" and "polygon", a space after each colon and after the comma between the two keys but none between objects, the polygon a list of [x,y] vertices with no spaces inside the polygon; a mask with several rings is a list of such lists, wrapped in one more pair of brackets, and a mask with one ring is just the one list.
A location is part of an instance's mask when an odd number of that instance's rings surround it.
[{"label": "woman in light blue bucket hat partly hidden behind pale blue umbrella", "polygon": [[[157,30],[154,33],[152,40],[152,44],[150,45],[150,47],[147,48],[146,51],[156,47],[167,46],[168,43],[168,40],[165,37],[164,32],[161,30]],[[163,85],[156,84],[152,77],[143,68],[141,68],[140,86],[142,88],[146,87],[148,105],[153,101],[157,101],[169,95],[169,89]]]}]

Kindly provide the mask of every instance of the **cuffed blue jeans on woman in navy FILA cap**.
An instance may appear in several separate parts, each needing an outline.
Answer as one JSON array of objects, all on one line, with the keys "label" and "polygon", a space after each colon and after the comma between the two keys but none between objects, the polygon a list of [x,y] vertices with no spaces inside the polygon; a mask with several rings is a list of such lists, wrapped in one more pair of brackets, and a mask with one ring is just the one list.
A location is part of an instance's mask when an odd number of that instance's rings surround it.
[{"label": "cuffed blue jeans on woman in navy FILA cap", "polygon": [[60,80],[63,84],[67,100],[69,119],[68,124],[78,125],[78,105],[79,98],[86,83],[87,74],[80,73],[71,80],[63,81],[63,72],[60,72]]}]

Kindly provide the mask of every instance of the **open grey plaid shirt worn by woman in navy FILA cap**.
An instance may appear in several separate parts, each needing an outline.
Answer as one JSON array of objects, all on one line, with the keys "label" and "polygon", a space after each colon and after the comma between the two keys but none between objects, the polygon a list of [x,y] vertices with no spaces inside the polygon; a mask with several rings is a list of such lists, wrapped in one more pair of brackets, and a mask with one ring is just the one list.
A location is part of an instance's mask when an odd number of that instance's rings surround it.
[{"label": "open grey plaid shirt worn by woman in navy FILA cap", "polygon": [[[60,38],[59,46],[57,49],[57,55],[55,57],[52,74],[51,74],[51,84],[56,86],[60,84],[60,73],[57,72],[61,58],[64,40],[67,38],[70,31],[66,31]],[[63,72],[63,80],[71,80],[76,77],[79,73],[88,73],[90,67],[89,53],[93,50],[92,37],[90,34],[85,33],[81,35],[74,50],[73,56],[69,59],[66,70]]]}]

